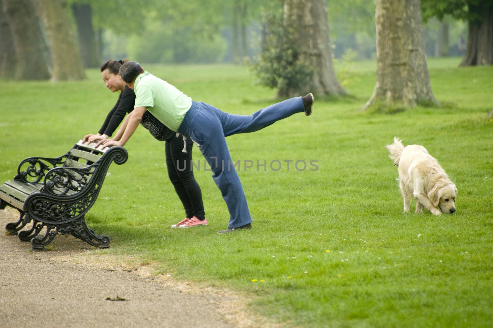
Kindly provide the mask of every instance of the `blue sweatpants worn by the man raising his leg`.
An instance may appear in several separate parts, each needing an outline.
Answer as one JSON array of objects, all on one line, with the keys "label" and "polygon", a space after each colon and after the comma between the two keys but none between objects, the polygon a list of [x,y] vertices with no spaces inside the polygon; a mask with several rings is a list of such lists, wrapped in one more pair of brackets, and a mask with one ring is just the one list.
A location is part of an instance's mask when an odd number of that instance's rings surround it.
[{"label": "blue sweatpants worn by the man raising his leg", "polygon": [[210,104],[192,101],[177,132],[200,145],[202,155],[211,166],[212,179],[228,206],[228,228],[245,226],[252,220],[238,173],[233,164],[229,165],[233,162],[225,137],[258,131],[301,112],[304,112],[301,97],[278,102],[252,115],[228,114]]}]

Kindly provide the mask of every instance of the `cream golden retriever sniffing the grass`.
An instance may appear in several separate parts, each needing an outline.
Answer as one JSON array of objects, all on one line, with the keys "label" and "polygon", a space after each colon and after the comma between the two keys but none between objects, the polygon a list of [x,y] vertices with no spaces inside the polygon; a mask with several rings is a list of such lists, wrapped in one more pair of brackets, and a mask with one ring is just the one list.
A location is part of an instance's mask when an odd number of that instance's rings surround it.
[{"label": "cream golden retriever sniffing the grass", "polygon": [[[423,206],[432,214],[452,214],[456,211],[457,188],[438,162],[420,145],[404,147],[394,137],[394,143],[387,145],[394,165],[399,168],[399,188],[404,198],[404,212],[409,212],[409,197],[416,198],[416,213],[423,212]],[[440,210],[438,210],[440,209]]]}]

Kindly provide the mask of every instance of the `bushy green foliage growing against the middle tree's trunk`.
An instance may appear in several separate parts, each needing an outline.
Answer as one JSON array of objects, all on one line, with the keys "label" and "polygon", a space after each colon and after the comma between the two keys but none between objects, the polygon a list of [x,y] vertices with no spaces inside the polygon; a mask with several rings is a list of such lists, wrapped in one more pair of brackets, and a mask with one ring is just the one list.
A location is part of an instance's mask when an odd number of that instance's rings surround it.
[{"label": "bushy green foliage growing against the middle tree's trunk", "polygon": [[266,13],[265,48],[248,63],[257,84],[277,88],[279,96],[289,96],[292,90],[308,83],[313,70],[298,52],[294,39],[296,26],[284,22],[282,17],[282,9],[276,6]]}]

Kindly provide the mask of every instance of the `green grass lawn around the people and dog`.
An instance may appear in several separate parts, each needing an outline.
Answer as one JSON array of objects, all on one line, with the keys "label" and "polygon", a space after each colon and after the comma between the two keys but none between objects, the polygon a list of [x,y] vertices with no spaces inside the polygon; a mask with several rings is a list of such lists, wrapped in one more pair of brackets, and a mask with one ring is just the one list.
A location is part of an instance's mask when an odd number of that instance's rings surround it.
[{"label": "green grass lawn around the people and dog", "polygon": [[[488,327],[493,321],[493,67],[428,61],[440,108],[361,112],[375,63],[353,63],[352,98],[318,99],[292,116],[228,137],[233,160],[317,160],[317,171],[239,172],[253,229],[217,235],[228,213],[211,172],[195,172],[208,227],[171,230],[183,217],[164,144],[139,128],[129,160],[112,165],[91,228],[111,237],[95,254],[131,255],[159,273],[253,293],[253,311],[305,327]],[[342,64],[336,66],[340,69]],[[246,67],[146,66],[194,98],[238,114],[275,100]],[[82,82],[0,82],[0,180],[28,156],[64,154],[98,131],[116,95],[97,70]],[[397,169],[385,145],[421,144],[458,187],[457,212],[402,213]],[[204,159],[194,147],[194,160]],[[412,204],[413,205],[413,204]],[[330,251],[330,252],[328,252]],[[252,281],[256,279],[257,281]]]}]

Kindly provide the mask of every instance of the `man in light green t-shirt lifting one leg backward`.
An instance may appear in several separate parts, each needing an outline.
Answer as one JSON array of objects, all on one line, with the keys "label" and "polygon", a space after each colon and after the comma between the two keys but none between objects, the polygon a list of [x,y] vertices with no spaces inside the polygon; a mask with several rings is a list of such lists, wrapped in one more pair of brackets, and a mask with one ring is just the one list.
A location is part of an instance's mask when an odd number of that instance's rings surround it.
[{"label": "man in light green t-shirt lifting one leg backward", "polygon": [[252,115],[225,113],[210,104],[193,101],[173,85],[144,71],[135,62],[120,67],[120,76],[135,91],[135,108],[122,127],[125,131],[120,141],[102,140],[106,146],[123,146],[139,126],[142,114],[148,110],[159,121],[184,137],[191,138],[211,166],[212,178],[221,191],[230,214],[228,233],[251,229],[251,216],[245,193],[229,154],[225,137],[236,133],[263,129],[295,113],[312,114],[314,97],[308,94],[281,101],[262,108]]}]

